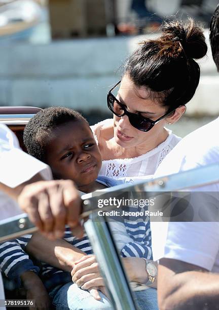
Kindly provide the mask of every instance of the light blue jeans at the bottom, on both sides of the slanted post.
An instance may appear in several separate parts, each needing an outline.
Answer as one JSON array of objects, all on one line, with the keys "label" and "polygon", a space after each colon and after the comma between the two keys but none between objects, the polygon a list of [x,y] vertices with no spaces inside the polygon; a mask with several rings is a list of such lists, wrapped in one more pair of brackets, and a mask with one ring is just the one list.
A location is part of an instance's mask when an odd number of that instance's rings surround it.
[{"label": "light blue jeans at the bottom, on both sides of the slanted post", "polygon": [[[50,292],[53,305],[57,310],[113,310],[109,300],[99,292],[101,300],[96,300],[86,290],[82,290],[76,284],[69,282],[58,286]],[[158,310],[157,290],[149,288],[143,291],[133,292],[134,300],[140,310]]]}]

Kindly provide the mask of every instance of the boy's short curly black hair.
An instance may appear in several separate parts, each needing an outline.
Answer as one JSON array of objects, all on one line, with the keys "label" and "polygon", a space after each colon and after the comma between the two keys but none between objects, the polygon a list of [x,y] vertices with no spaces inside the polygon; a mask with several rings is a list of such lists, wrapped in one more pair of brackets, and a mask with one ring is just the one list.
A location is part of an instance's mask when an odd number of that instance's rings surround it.
[{"label": "boy's short curly black hair", "polygon": [[72,121],[88,124],[79,112],[63,106],[48,107],[36,113],[24,129],[23,141],[28,153],[46,163],[46,145],[51,130]]}]

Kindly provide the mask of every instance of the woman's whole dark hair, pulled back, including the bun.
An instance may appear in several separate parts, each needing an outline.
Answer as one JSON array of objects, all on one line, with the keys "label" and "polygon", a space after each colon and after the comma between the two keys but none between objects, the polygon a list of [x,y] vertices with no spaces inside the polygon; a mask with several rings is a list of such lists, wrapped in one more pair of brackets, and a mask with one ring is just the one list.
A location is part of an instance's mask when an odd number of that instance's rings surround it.
[{"label": "woman's whole dark hair, pulled back, including the bun", "polygon": [[194,59],[206,53],[203,30],[192,19],[165,22],[158,39],[140,43],[127,59],[124,74],[170,111],[194,96],[200,78]]}]

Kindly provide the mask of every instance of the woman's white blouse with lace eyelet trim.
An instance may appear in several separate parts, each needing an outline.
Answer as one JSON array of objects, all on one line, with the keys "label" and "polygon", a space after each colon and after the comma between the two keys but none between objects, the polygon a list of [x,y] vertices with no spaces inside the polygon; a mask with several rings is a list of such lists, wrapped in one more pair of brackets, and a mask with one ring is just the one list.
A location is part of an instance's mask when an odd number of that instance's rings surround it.
[{"label": "woman's white blouse with lace eyelet trim", "polygon": [[[113,119],[107,119],[91,126],[97,144],[102,127],[112,122]],[[169,133],[167,139],[157,147],[138,157],[103,161],[99,174],[114,179],[154,174],[162,160],[181,140],[171,130],[166,130]]]}]

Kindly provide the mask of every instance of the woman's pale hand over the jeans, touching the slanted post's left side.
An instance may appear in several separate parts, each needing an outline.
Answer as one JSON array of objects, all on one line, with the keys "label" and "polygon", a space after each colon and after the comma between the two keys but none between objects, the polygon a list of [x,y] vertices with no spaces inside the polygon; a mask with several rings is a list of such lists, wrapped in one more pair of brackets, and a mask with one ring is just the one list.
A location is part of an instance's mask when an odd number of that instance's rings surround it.
[{"label": "woman's pale hand over the jeans, touching the slanted post's left side", "polygon": [[75,261],[75,267],[71,271],[71,277],[72,281],[83,290],[89,290],[95,299],[101,299],[97,290],[100,290],[107,296],[95,255],[86,255],[80,260]]}]

